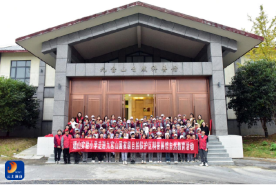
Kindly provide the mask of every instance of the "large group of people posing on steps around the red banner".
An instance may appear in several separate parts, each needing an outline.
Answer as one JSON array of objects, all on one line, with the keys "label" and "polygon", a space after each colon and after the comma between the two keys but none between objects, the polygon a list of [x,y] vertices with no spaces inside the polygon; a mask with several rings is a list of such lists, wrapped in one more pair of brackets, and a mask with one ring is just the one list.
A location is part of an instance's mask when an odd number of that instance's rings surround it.
[{"label": "large group of people posing on steps around the red banner", "polygon": [[[207,151],[208,151],[208,135],[209,128],[206,122],[202,119],[201,115],[194,117],[193,113],[187,118],[186,115],[178,115],[177,117],[153,117],[152,115],[147,118],[130,119],[126,120],[111,115],[111,119],[105,116],[101,119],[100,116],[95,119],[92,115],[91,119],[86,115],[82,116],[81,113],[77,117],[72,117],[71,121],[66,125],[64,130],[58,130],[57,135],[54,137],[55,144],[55,162],[59,164],[61,150],[63,150],[64,164],[70,163],[70,139],[197,139],[199,153],[172,153],[175,163],[179,162],[199,162],[199,166],[208,166],[207,164]],[[131,164],[135,164],[137,153],[130,153]],[[141,163],[146,164],[147,153],[139,153]],[[82,155],[83,163],[87,164],[88,157],[92,157],[92,163],[95,163],[97,157],[99,163],[103,163],[103,158],[106,162],[111,162],[111,157],[115,157],[115,162],[119,162],[120,153],[87,153],[75,152],[75,164],[79,164],[79,159]],[[154,153],[148,153],[148,162],[153,162]],[[166,153],[166,163],[170,163],[171,153]],[[161,163],[162,153],[157,153],[157,163]],[[127,164],[128,153],[121,153],[123,164]]]}]

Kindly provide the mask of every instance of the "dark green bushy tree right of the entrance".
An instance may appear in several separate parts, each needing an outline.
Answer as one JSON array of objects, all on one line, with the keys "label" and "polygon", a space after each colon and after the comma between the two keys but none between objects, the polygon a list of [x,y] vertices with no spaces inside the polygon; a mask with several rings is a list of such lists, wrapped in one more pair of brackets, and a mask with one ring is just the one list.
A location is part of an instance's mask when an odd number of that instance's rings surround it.
[{"label": "dark green bushy tree right of the entrance", "polygon": [[248,128],[261,121],[268,137],[267,124],[276,113],[276,62],[248,61],[237,70],[228,87],[228,108],[233,108],[239,124]]}]

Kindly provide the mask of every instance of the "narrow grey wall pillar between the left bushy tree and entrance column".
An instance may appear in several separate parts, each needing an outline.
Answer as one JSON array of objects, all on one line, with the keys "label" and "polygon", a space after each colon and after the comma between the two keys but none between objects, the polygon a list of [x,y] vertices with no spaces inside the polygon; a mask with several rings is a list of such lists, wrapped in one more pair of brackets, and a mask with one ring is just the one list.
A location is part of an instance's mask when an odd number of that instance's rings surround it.
[{"label": "narrow grey wall pillar between the left bushy tree and entrance column", "polygon": [[37,88],[37,99],[39,99],[39,119],[37,119],[36,136],[42,136],[42,119],[44,106],[44,85],[45,85],[46,64],[44,61],[39,61],[39,86]]}]

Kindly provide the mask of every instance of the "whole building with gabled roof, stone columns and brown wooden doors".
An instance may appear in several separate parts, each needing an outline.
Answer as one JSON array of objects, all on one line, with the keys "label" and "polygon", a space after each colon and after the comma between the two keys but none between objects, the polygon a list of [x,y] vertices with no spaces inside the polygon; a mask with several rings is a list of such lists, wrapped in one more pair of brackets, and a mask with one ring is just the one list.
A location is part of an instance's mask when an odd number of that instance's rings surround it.
[{"label": "whole building with gabled roof, stone columns and brown wooden doors", "polygon": [[[242,135],[226,110],[225,88],[235,64],[262,39],[135,2],[18,38],[26,50],[0,48],[0,75],[38,87],[41,119],[28,130],[34,137],[56,133],[78,112],[194,113],[212,119],[213,135]],[[24,78],[17,75],[23,67]]]}]

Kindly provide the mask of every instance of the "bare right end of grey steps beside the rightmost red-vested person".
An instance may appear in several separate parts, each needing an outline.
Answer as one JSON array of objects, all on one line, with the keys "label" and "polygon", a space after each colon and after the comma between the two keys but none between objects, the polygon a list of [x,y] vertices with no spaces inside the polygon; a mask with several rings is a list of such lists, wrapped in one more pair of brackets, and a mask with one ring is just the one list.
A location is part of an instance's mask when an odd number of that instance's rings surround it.
[{"label": "bare right end of grey steps beside the rightmost red-vested person", "polygon": [[208,145],[208,164],[221,166],[235,165],[232,158],[229,157],[226,149],[224,149],[224,146],[215,135],[209,135]]}]

